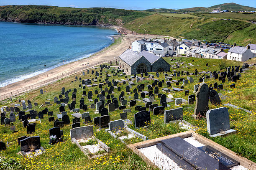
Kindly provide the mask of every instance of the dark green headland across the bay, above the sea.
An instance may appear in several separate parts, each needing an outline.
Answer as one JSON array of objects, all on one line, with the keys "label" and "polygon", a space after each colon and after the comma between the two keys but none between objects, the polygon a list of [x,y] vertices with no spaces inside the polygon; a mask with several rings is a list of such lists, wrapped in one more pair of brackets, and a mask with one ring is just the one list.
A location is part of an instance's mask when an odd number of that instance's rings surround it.
[{"label": "dark green headland across the bay, above the sea", "polygon": [[123,25],[138,17],[151,15],[113,8],[69,8],[41,5],[0,7],[0,20],[20,23],[72,25]]}]

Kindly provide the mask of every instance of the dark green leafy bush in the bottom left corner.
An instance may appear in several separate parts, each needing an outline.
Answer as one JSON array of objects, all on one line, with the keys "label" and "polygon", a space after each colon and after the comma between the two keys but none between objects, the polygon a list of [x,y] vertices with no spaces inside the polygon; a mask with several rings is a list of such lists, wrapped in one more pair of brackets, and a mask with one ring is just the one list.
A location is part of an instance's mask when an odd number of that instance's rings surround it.
[{"label": "dark green leafy bush in the bottom left corner", "polygon": [[0,170],[24,170],[19,161],[0,157]]}]

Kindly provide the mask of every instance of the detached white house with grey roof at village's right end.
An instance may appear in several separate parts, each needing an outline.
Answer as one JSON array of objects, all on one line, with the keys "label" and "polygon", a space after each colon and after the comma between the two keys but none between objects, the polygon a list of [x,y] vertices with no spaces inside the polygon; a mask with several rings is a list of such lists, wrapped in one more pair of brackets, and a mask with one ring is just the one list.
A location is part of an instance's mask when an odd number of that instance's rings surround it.
[{"label": "detached white house with grey roof at village's right end", "polygon": [[234,46],[230,48],[227,56],[228,60],[234,61],[247,61],[251,58],[253,58],[253,53],[250,50],[250,46],[247,46],[247,48]]}]

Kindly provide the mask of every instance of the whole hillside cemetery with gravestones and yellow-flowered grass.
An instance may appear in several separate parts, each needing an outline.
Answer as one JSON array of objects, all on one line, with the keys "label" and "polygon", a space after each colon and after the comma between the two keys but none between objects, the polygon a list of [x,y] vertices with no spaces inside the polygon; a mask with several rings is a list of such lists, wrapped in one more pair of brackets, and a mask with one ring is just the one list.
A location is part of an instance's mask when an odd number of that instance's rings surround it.
[{"label": "whole hillside cemetery with gravestones and yellow-flowered grass", "polygon": [[169,71],[113,61],[0,101],[1,157],[27,170],[256,169],[256,67],[162,59]]}]

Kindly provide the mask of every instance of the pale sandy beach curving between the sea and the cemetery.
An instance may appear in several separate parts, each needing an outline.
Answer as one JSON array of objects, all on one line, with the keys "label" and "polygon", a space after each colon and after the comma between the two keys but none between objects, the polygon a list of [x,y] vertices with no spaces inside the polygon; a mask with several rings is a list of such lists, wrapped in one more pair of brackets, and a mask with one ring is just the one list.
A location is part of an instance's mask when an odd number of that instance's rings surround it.
[{"label": "pale sandy beach curving between the sea and the cemetery", "polygon": [[32,86],[38,82],[46,81],[48,79],[52,79],[56,76],[61,76],[65,73],[69,73],[71,71],[75,71],[77,69],[81,69],[85,66],[87,66],[87,63],[90,65],[98,63],[100,61],[109,61],[109,60],[115,60],[118,59],[118,56],[120,56],[121,53],[123,53],[126,49],[131,46],[131,43],[135,41],[136,38],[149,38],[149,37],[158,37],[161,38],[161,36],[154,36],[154,35],[140,35],[131,33],[128,30],[123,30],[123,28],[119,27],[111,27],[113,29],[117,29],[119,33],[124,33],[122,35],[113,36],[113,38],[121,39],[120,43],[115,43],[107,48],[104,48],[103,50],[95,53],[94,55],[84,58],[79,61],[74,61],[72,63],[67,63],[65,65],[59,66],[55,69],[49,70],[45,73],[39,74],[37,76],[33,76],[31,78],[15,82],[13,84],[9,84],[7,86],[0,88],[0,95],[9,94],[12,91],[17,91],[18,89],[23,89],[27,86]]}]

